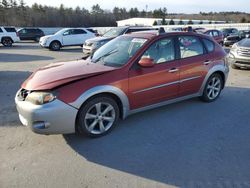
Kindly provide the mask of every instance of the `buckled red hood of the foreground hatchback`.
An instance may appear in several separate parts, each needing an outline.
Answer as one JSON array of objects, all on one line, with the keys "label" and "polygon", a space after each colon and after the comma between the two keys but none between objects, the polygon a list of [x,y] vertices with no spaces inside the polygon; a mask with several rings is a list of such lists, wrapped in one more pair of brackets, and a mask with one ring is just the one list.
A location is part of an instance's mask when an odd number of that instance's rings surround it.
[{"label": "buckled red hood of the foreground hatchback", "polygon": [[52,63],[38,69],[23,84],[26,90],[49,90],[62,84],[115,70],[86,60]]}]

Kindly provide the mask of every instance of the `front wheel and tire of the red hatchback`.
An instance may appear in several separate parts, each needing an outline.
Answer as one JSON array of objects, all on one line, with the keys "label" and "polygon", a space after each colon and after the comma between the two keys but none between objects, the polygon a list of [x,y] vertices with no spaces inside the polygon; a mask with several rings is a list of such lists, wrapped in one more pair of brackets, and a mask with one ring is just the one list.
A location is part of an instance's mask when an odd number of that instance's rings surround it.
[{"label": "front wheel and tire of the red hatchback", "polygon": [[[99,104],[101,105],[100,114],[98,115],[97,106]],[[108,107],[112,110],[107,111],[105,115],[101,115]],[[102,118],[109,118],[110,120]],[[115,127],[118,119],[119,107],[116,101],[106,95],[98,96],[91,98],[80,108],[76,119],[76,131],[89,137],[100,137],[109,133]],[[101,128],[101,124],[103,129]]]}]

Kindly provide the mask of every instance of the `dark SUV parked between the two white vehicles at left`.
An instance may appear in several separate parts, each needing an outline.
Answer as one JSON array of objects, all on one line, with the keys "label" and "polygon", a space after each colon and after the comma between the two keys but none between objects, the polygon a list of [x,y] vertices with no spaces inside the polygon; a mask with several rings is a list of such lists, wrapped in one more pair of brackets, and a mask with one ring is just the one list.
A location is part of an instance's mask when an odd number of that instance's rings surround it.
[{"label": "dark SUV parked between the two white vehicles at left", "polygon": [[17,32],[20,40],[34,40],[39,42],[40,38],[44,36],[43,31],[39,28],[22,28]]}]

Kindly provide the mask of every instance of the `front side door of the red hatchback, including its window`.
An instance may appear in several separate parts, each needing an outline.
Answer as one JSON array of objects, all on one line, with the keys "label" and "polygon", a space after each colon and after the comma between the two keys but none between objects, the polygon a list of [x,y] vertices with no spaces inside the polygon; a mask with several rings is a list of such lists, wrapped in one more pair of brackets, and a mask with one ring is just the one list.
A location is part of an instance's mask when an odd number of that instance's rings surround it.
[{"label": "front side door of the red hatchback, including its window", "polygon": [[[129,100],[136,109],[178,96],[179,62],[175,61],[175,38],[153,43],[142,55],[152,58],[153,67],[140,67],[138,62],[129,71]],[[139,58],[140,59],[140,58]]]}]

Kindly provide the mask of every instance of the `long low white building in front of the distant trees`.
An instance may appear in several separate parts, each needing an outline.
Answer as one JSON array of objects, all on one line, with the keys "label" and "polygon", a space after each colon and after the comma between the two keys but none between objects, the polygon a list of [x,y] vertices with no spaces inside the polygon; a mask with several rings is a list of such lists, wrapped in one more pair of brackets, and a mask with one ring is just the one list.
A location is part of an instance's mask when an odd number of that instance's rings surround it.
[{"label": "long low white building in front of the distant trees", "polygon": [[[171,19],[165,19],[166,23],[169,23]],[[187,19],[173,19],[175,25],[178,25],[180,21],[183,22],[183,25],[188,24],[189,20]],[[203,24],[223,24],[225,21],[211,21],[211,20],[192,20],[193,24],[199,24],[202,21]],[[117,26],[153,26],[154,23],[161,25],[162,18],[130,18],[126,20],[117,21]]]}]

